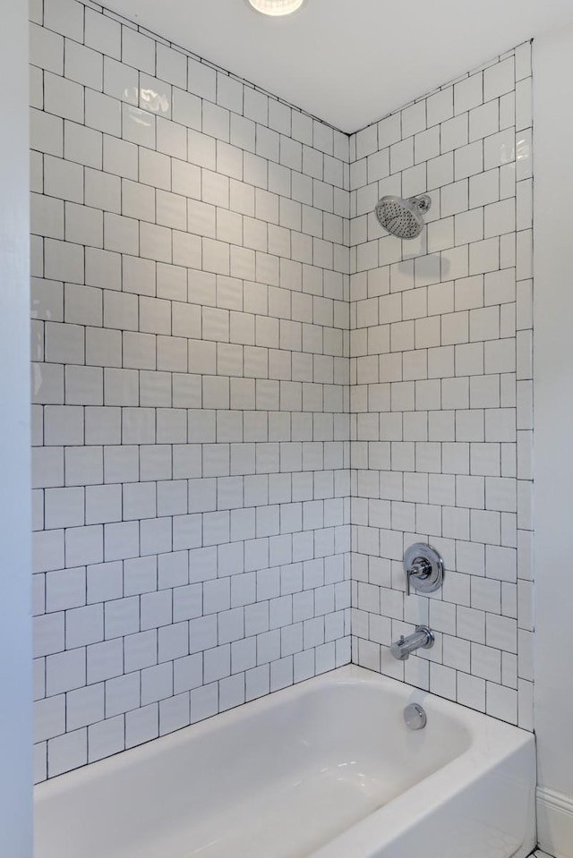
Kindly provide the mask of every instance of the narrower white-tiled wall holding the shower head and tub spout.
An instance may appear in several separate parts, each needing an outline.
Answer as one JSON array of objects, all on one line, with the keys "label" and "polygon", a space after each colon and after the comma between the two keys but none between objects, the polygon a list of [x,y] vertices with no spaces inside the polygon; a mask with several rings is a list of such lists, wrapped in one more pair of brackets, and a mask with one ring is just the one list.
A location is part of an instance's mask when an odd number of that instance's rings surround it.
[{"label": "narrower white-tiled wall holding the shower head and tub spout", "polygon": [[[533,726],[531,46],[351,139],[353,661]],[[415,242],[383,194],[429,193]],[[412,542],[440,549],[405,596]],[[415,624],[432,650],[388,646]]]}]

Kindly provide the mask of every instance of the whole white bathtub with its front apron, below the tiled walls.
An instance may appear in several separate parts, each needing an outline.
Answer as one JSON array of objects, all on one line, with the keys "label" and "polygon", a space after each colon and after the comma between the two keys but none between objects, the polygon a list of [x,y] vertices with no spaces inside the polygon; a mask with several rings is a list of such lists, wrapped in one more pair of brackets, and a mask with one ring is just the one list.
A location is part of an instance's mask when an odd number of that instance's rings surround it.
[{"label": "whole white bathtub with its front apron, below the tiled walls", "polygon": [[35,856],[524,858],[534,789],[533,735],[342,667],[38,786]]}]

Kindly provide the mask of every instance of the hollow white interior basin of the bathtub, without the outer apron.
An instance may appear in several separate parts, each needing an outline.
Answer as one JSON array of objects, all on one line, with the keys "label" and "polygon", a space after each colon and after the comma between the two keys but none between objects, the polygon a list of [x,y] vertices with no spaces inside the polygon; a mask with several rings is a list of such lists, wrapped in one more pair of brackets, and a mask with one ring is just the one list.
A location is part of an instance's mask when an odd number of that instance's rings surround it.
[{"label": "hollow white interior basin of the bathtub, without the outer apron", "polygon": [[403,709],[423,693],[356,675],[40,786],[37,858],[304,858],[470,748],[447,706],[411,731]]}]

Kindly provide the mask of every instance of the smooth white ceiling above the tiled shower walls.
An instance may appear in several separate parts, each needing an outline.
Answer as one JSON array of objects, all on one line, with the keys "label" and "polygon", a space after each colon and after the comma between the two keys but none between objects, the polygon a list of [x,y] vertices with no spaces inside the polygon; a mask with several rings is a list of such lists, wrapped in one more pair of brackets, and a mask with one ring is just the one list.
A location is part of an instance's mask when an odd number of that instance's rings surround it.
[{"label": "smooth white ceiling above the tiled shower walls", "polygon": [[108,8],[345,132],[573,21],[571,0],[105,0]]}]

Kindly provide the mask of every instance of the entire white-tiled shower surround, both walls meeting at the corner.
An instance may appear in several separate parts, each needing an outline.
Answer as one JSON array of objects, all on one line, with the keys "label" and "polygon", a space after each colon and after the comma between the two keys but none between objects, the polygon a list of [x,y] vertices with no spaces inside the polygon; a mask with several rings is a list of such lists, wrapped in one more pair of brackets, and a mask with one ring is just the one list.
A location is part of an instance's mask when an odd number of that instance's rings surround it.
[{"label": "entire white-tiled shower surround, both walls meeting at the corner", "polygon": [[[530,728],[529,45],[349,139],[96,4],[30,27],[37,780],[351,631]],[[447,579],[405,599],[419,538]]]}]

